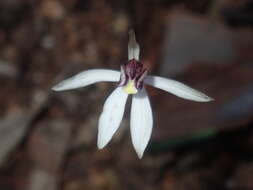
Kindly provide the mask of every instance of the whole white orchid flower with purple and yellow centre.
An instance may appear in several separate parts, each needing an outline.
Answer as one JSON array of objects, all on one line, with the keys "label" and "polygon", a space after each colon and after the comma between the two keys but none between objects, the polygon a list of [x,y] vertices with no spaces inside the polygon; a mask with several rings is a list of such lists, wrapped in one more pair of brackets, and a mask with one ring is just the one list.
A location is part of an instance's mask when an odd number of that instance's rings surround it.
[{"label": "whole white orchid flower with purple and yellow centre", "polygon": [[213,100],[178,81],[158,76],[147,76],[147,70],[139,61],[140,48],[133,30],[129,32],[128,62],[121,71],[92,69],[63,80],[52,89],[55,91],[84,87],[96,82],[118,82],[117,88],[107,98],[98,122],[97,146],[104,148],[111,140],[122,121],[125,104],[132,95],[130,130],[132,143],[139,158],[142,158],[151,137],[153,116],[144,84],[170,92],[178,97],[197,102]]}]

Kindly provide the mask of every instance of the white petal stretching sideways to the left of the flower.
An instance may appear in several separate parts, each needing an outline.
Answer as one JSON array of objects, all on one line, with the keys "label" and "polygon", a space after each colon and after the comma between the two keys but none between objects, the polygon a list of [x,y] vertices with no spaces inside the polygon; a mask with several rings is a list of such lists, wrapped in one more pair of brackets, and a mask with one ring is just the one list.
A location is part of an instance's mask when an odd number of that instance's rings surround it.
[{"label": "white petal stretching sideways to the left of the flower", "polygon": [[52,89],[55,91],[70,90],[94,84],[96,82],[108,81],[117,82],[120,79],[120,72],[108,69],[92,69],[83,71],[71,78],[63,80]]}]

